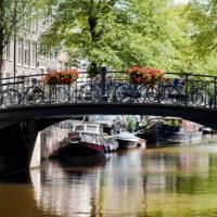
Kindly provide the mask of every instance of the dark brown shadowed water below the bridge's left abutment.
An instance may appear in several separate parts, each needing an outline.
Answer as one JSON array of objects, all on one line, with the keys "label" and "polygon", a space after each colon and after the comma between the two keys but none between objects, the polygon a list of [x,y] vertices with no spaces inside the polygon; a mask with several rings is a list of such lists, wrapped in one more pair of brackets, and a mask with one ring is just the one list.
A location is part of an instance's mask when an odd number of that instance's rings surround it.
[{"label": "dark brown shadowed water below the bridge's left abutment", "polygon": [[[0,177],[0,216],[43,217],[46,212],[37,205],[36,192],[29,173],[11,174]],[[49,217],[59,217],[49,213]]]}]

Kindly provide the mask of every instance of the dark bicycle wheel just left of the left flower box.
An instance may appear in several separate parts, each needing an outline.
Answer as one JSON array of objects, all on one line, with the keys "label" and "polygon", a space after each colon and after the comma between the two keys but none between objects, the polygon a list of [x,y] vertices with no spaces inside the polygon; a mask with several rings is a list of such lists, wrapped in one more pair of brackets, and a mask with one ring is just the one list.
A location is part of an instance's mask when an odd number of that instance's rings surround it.
[{"label": "dark bicycle wheel just left of the left flower box", "polygon": [[38,105],[43,102],[44,92],[39,87],[29,87],[25,91],[25,100],[28,104]]}]

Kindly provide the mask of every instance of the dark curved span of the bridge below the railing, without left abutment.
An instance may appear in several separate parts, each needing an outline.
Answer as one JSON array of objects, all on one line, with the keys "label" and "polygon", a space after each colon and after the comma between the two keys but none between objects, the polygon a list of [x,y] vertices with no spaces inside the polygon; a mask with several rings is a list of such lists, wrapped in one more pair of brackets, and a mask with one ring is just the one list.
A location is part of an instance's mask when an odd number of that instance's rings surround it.
[{"label": "dark curved span of the bridge below the railing, without left abutment", "polygon": [[[72,115],[113,115],[113,114],[139,114],[156,116],[175,116],[192,120],[207,127],[217,129],[217,110],[195,106],[180,106],[166,104],[128,104],[128,103],[79,103],[79,104],[55,104],[29,107],[11,108],[7,112],[0,111],[0,129],[10,123],[23,120],[40,122],[39,128],[48,127],[55,119],[65,119]],[[43,126],[44,125],[44,126]]]}]

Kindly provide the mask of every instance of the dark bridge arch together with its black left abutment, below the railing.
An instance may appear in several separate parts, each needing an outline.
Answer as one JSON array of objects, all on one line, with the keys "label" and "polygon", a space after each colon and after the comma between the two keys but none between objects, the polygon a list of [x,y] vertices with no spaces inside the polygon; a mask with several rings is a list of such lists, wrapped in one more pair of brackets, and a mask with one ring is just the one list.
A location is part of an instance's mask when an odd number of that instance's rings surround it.
[{"label": "dark bridge arch together with its black left abutment, below the railing", "polygon": [[73,115],[139,114],[176,116],[217,130],[217,111],[164,104],[59,104],[0,112],[0,174],[29,167],[37,135]]}]

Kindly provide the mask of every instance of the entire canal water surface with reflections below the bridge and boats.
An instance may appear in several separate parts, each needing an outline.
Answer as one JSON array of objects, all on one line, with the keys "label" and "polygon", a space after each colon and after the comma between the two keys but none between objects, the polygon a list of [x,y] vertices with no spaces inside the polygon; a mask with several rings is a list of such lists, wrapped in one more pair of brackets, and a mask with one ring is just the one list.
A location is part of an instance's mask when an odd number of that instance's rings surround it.
[{"label": "entire canal water surface with reflections below the bridge and boats", "polygon": [[217,140],[86,165],[46,161],[14,177],[0,179],[2,217],[217,216]]}]

